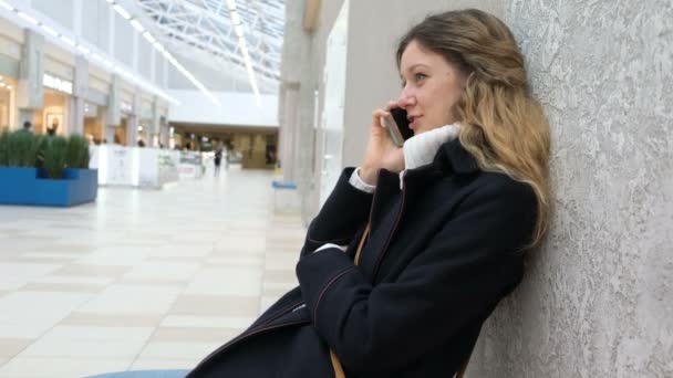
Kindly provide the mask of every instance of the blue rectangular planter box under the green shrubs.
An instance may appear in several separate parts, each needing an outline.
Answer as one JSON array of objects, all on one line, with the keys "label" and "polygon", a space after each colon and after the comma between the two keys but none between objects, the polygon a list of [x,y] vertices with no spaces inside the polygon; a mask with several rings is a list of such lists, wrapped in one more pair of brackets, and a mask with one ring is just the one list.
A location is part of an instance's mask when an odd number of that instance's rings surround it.
[{"label": "blue rectangular planter box under the green shrubs", "polygon": [[0,203],[69,207],[95,201],[97,191],[96,169],[65,169],[52,180],[41,169],[0,167]]}]

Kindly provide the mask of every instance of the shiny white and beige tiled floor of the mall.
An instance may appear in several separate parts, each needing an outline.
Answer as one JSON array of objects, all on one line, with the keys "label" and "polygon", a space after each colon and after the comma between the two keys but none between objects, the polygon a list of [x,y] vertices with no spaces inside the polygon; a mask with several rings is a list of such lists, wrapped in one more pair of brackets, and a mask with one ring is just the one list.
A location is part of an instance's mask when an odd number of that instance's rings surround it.
[{"label": "shiny white and beige tiled floor of the mall", "polygon": [[271,172],[0,207],[0,377],[188,369],[297,284]]}]

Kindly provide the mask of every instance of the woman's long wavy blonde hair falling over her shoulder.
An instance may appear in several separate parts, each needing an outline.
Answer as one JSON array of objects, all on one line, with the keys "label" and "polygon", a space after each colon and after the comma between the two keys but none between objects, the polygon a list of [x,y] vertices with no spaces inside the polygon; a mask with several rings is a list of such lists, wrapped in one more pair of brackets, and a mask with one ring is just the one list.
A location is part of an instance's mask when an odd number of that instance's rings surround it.
[{"label": "woman's long wavy blonde hair falling over her shoulder", "polygon": [[406,46],[416,41],[466,73],[456,104],[459,140],[484,171],[508,175],[529,185],[537,197],[537,221],[530,245],[549,228],[549,124],[530,93],[524,56],[509,28],[476,9],[427,17],[400,41],[397,67]]}]

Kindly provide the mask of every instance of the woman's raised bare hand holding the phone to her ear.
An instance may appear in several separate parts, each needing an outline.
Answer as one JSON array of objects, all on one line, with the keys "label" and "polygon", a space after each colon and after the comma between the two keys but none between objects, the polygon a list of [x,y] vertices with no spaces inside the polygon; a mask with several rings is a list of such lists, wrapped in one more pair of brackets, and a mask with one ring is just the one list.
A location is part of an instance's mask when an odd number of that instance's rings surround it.
[{"label": "woman's raised bare hand holding the phone to her ear", "polygon": [[[397,107],[396,102],[390,102],[387,109]],[[372,113],[370,126],[370,140],[366,145],[364,159],[360,166],[360,178],[372,186],[376,186],[379,170],[385,168],[393,172],[404,170],[404,151],[393,144],[383,117],[392,119],[391,114],[384,109]]]}]

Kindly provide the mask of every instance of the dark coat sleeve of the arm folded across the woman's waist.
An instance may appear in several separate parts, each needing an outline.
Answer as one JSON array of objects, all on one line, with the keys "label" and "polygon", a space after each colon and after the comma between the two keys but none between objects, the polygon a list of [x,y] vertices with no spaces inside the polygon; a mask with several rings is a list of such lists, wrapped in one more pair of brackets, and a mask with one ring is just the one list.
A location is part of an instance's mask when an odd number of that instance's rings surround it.
[{"label": "dark coat sleeve of the arm folded across the woman's waist", "polygon": [[394,283],[372,286],[328,249],[297,274],[313,325],[358,376],[390,375],[484,319],[522,274],[536,199],[515,183],[473,192]]}]

